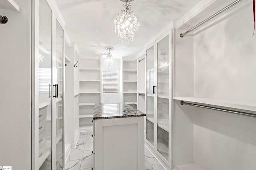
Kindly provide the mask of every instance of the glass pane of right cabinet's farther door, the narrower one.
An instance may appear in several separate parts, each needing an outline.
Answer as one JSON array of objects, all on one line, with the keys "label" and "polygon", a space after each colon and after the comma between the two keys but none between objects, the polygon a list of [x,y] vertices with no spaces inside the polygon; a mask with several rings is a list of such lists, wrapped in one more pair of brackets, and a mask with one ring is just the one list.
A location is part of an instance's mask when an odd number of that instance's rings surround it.
[{"label": "glass pane of right cabinet's farther door, the narrower one", "polygon": [[154,46],[146,50],[146,139],[154,146]]}]

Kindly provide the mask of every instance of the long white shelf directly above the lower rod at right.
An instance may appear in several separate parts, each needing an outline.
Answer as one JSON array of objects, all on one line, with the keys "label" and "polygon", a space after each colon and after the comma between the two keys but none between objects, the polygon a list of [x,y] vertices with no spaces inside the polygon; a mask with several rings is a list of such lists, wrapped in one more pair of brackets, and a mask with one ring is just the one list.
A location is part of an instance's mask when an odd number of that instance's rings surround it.
[{"label": "long white shelf directly above the lower rod at right", "polygon": [[200,104],[209,104],[213,106],[230,107],[234,109],[243,109],[249,111],[256,111],[255,102],[232,101],[232,100],[218,100],[210,98],[198,98],[191,96],[173,97],[174,100],[183,100],[185,102],[195,102]]}]

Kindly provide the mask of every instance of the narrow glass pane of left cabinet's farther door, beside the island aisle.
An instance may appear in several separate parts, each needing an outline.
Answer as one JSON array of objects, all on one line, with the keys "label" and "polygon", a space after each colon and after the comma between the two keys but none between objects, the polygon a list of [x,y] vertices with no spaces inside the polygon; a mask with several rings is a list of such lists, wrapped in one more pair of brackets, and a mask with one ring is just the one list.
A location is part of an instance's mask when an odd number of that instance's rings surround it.
[{"label": "narrow glass pane of left cabinet's farther door, beside the island aisle", "polygon": [[63,169],[63,29],[56,20],[56,170]]}]

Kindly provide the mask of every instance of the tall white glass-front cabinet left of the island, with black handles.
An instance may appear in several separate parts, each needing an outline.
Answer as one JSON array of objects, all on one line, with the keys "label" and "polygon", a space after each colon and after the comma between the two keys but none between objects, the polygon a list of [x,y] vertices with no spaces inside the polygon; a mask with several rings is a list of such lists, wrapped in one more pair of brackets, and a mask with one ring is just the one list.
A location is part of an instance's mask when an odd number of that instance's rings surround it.
[{"label": "tall white glass-front cabinet left of the island, with black handles", "polygon": [[[33,4],[32,169],[64,168],[64,29],[51,1]],[[66,59],[68,60],[68,59]]]}]

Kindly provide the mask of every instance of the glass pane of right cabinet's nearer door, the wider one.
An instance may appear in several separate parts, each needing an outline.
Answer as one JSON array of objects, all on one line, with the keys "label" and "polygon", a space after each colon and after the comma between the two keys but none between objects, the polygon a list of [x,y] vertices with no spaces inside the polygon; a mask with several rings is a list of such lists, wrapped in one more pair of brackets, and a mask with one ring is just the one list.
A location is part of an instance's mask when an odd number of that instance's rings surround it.
[{"label": "glass pane of right cabinet's nearer door, the wider one", "polygon": [[168,161],[169,35],[157,43],[157,150]]}]

